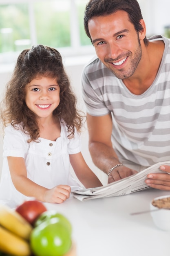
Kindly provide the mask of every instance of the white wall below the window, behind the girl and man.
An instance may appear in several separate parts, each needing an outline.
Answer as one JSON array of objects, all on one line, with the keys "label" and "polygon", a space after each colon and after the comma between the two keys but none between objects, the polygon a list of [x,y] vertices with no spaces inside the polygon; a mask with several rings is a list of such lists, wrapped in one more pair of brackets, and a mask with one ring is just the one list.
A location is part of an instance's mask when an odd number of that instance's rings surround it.
[{"label": "white wall below the window, behind the girl and man", "polygon": [[[78,106],[84,112],[85,112],[85,106],[81,96],[81,74],[82,74],[82,69],[84,67],[84,64],[87,63],[91,57],[92,56],[86,56],[84,58],[82,57],[66,58],[65,60],[63,58],[64,65],[66,67],[66,72],[70,77],[71,84],[73,85],[75,94],[77,95],[77,98],[78,98]],[[73,65],[73,62],[75,63],[74,65]],[[2,69],[0,71],[0,98],[2,98],[5,84],[10,79],[13,66],[9,67],[8,69],[10,70],[8,72],[5,71],[5,69],[3,72],[2,72]],[[0,135],[0,174],[2,169],[2,151],[3,151],[2,137],[3,135],[1,134]],[[84,131],[82,132],[82,154],[88,166],[99,177],[102,183],[107,184],[107,175],[104,174],[102,171],[99,171],[99,169],[92,162],[91,155],[88,151],[88,132],[86,129],[84,129]]]}]

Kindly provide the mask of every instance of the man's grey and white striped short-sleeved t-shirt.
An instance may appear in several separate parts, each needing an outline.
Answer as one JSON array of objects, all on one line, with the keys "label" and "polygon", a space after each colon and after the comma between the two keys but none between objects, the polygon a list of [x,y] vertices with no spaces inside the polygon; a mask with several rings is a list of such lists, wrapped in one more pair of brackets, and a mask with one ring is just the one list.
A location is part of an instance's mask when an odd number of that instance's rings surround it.
[{"label": "man's grey and white striped short-sleeved t-shirt", "polygon": [[170,160],[170,40],[159,71],[150,88],[141,95],[132,94],[97,58],[82,74],[82,94],[88,114],[112,113],[112,143],[117,155],[141,166]]}]

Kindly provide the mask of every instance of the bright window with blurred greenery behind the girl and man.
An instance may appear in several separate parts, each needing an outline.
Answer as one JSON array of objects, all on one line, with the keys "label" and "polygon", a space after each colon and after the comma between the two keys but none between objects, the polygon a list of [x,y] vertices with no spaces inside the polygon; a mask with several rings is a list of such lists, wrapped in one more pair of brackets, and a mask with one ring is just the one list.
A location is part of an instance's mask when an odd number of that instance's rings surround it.
[{"label": "bright window with blurred greenery behind the girl and man", "polygon": [[67,55],[84,54],[83,47],[91,51],[83,24],[87,2],[0,0],[0,63],[13,61],[23,49],[36,44],[60,48]]}]

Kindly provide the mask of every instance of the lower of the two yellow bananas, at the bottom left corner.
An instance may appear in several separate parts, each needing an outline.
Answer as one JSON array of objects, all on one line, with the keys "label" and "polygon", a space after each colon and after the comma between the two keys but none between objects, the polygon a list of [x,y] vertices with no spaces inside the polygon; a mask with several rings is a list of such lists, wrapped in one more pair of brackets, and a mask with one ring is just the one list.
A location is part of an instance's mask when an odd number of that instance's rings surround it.
[{"label": "lower of the two yellow bananas, at the bottom left corner", "polygon": [[29,243],[3,227],[0,227],[0,251],[14,256],[31,255]]}]

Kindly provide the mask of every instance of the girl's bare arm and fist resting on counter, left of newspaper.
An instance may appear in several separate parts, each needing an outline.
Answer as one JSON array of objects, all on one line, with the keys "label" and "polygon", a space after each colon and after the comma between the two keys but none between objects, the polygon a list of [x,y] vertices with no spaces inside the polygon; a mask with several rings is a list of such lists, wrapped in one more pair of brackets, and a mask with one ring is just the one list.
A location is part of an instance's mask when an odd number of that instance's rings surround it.
[{"label": "girl's bare arm and fist resting on counter, left of newspaper", "polygon": [[59,185],[53,189],[47,189],[27,177],[24,158],[7,157],[7,159],[12,182],[15,189],[20,193],[28,197],[34,197],[36,200],[50,203],[61,203],[69,198],[71,193],[70,186]]}]

